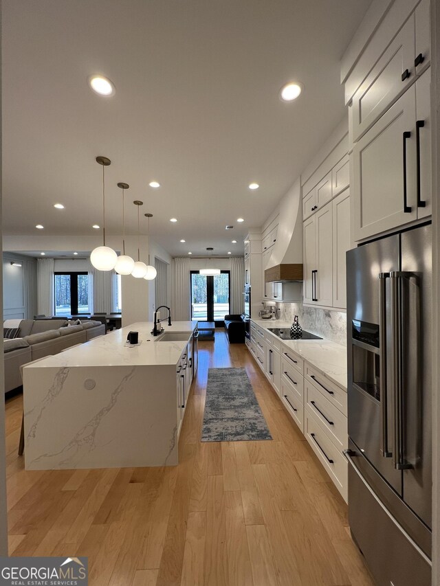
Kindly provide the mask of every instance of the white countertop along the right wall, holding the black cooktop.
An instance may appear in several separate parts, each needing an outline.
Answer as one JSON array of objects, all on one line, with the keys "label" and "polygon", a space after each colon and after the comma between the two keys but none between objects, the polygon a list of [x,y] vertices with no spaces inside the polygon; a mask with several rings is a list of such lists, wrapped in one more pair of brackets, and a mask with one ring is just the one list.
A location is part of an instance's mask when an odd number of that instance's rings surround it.
[{"label": "white countertop along the right wall, holding the black cooktop", "polygon": [[[252,319],[257,326],[264,328],[290,328],[291,322],[281,319]],[[276,339],[278,336],[270,333]],[[347,348],[331,340],[281,340],[304,360],[325,374],[331,381],[347,392]]]}]

